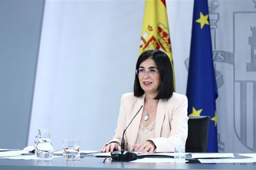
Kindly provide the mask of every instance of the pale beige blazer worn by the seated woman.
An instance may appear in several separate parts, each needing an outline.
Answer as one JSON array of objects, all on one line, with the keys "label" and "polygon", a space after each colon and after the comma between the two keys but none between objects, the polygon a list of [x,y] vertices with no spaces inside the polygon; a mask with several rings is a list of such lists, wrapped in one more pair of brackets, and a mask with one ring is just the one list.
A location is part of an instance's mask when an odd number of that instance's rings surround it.
[{"label": "pale beige blazer worn by the seated woman", "polygon": [[[125,93],[121,99],[117,129],[111,142],[119,142],[123,131],[133,116],[144,106],[145,95],[135,97],[133,93]],[[169,100],[159,100],[156,112],[155,138],[150,139],[156,145],[155,152],[174,152],[177,145],[185,146],[188,136],[188,99],[184,95],[173,93]],[[136,143],[143,108],[139,111],[127,131],[124,139],[128,150]],[[106,144],[105,144],[106,145]]]}]

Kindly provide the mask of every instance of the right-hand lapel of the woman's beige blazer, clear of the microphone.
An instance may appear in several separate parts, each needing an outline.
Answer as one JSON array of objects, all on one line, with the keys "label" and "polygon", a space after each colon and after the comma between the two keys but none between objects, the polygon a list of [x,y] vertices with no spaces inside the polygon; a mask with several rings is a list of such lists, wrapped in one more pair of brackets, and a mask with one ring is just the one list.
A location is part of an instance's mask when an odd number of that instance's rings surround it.
[{"label": "right-hand lapel of the woman's beige blazer, clear of the microphone", "polygon": [[161,135],[162,122],[165,118],[165,106],[164,101],[159,100],[156,111],[155,138],[160,138]]}]

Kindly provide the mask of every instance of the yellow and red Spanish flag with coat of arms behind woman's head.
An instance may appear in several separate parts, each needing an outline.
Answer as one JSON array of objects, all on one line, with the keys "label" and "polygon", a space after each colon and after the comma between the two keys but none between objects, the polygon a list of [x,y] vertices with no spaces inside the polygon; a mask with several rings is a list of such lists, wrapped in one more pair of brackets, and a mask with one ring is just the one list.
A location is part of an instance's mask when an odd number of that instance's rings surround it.
[{"label": "yellow and red Spanish flag with coat of arms behind woman's head", "polygon": [[[146,0],[145,2],[139,55],[143,53],[143,51],[153,49],[162,50],[169,56],[174,75],[173,55],[171,54],[171,39],[165,0]],[[175,88],[174,76],[173,82]]]}]

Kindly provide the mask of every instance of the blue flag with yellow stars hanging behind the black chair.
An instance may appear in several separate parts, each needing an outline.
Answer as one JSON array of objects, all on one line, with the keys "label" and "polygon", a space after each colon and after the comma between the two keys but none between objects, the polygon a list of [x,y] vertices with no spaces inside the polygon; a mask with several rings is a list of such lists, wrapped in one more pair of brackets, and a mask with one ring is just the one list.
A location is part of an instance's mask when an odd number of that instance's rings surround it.
[{"label": "blue flag with yellow stars hanging behind the black chair", "polygon": [[217,147],[217,84],[207,0],[194,0],[192,37],[188,69],[188,116],[210,116],[208,152]]}]

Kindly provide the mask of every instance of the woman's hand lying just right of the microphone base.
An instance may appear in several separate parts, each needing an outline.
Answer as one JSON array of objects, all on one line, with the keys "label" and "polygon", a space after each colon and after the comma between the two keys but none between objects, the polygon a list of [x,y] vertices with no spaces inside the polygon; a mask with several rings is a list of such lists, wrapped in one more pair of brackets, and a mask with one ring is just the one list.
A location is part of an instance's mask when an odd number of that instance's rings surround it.
[{"label": "woman's hand lying just right of the microphone base", "polygon": [[134,148],[134,151],[137,153],[144,154],[147,152],[148,154],[151,154],[156,149],[156,145],[152,140],[146,140],[141,144],[132,145],[132,148]]}]

